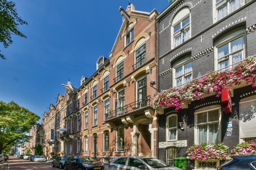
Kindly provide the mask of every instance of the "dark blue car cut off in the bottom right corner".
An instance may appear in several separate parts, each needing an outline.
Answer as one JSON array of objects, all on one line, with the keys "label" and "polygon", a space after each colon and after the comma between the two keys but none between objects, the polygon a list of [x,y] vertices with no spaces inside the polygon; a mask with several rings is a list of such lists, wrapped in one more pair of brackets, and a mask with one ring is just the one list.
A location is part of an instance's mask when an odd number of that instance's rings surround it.
[{"label": "dark blue car cut off in the bottom right corner", "polygon": [[231,156],[231,160],[217,167],[217,170],[256,170],[256,152],[249,155]]}]

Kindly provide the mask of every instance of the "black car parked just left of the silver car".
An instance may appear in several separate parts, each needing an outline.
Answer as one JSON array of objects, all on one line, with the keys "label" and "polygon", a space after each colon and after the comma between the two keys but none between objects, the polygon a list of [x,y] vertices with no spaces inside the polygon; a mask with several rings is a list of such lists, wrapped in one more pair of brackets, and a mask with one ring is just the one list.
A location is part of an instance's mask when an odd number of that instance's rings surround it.
[{"label": "black car parked just left of the silver car", "polygon": [[94,157],[71,156],[64,162],[64,170],[103,170],[104,164]]}]

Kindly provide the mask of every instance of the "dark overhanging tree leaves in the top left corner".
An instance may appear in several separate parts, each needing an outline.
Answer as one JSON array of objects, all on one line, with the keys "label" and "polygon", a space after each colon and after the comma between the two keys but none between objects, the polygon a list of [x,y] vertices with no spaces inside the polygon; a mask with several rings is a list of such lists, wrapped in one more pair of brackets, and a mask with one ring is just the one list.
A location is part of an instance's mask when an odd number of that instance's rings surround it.
[{"label": "dark overhanging tree leaves in the top left corner", "polygon": [[[0,0],[0,42],[4,44],[4,48],[7,48],[12,44],[11,35],[15,34],[20,37],[25,37],[18,29],[19,25],[26,24],[26,21],[23,21],[16,11],[15,3],[7,0]],[[4,55],[0,54],[2,59],[6,59]]]}]

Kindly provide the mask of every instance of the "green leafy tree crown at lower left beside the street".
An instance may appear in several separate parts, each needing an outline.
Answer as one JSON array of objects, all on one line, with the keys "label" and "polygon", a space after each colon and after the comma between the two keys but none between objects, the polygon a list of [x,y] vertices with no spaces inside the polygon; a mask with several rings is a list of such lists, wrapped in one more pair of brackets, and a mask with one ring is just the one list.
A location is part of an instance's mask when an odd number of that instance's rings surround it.
[{"label": "green leafy tree crown at lower left beside the street", "polygon": [[20,145],[31,137],[26,135],[40,117],[15,102],[0,101],[0,154],[4,149]]}]

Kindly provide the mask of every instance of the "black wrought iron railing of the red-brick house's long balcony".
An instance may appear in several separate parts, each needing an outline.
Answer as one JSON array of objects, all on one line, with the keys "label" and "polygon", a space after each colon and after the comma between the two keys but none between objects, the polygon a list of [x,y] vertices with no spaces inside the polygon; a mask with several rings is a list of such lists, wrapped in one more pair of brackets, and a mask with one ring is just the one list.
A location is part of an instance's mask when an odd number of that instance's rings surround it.
[{"label": "black wrought iron railing of the red-brick house's long balcony", "polygon": [[124,105],[123,107],[119,107],[116,110],[105,113],[105,120],[114,118],[116,116],[123,115],[123,114],[131,112],[131,111],[138,110],[139,108],[142,108],[145,106],[151,106],[151,105],[152,105],[151,98],[150,98],[150,95],[148,95],[147,97],[145,97],[143,99],[137,100],[133,103]]}]

